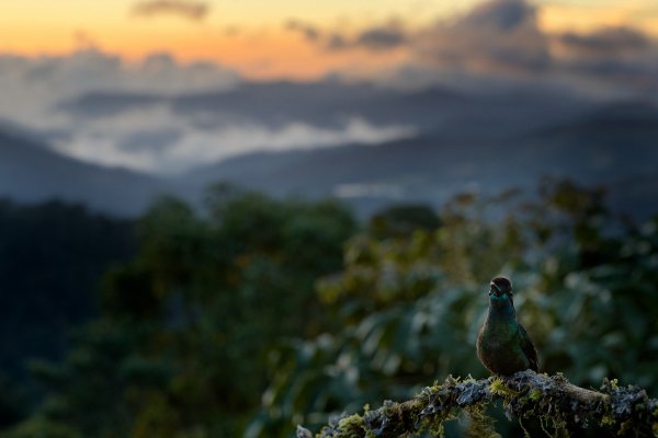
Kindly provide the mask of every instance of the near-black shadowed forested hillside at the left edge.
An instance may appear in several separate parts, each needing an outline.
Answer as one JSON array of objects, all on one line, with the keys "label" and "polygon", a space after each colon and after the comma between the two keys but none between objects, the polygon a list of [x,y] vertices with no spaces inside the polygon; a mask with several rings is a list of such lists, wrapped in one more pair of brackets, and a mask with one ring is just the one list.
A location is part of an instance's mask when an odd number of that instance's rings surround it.
[{"label": "near-black shadowed forested hillside at the left edge", "polygon": [[79,205],[0,200],[0,423],[34,401],[31,359],[57,359],[98,315],[99,278],[136,251],[133,223]]}]

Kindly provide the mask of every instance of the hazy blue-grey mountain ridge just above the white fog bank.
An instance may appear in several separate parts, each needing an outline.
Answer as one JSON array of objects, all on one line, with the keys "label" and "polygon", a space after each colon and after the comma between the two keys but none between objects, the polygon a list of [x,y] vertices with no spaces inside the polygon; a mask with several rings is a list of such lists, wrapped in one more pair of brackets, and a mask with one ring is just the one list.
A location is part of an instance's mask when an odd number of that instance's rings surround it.
[{"label": "hazy blue-grey mountain ridge just above the white fog bank", "polygon": [[463,124],[469,124],[488,132],[564,119],[589,104],[545,92],[475,95],[438,85],[408,91],[373,83],[326,80],[243,82],[231,90],[175,96],[95,92],[63,102],[57,110],[87,119],[111,117],[127,111],[148,111],[157,105],[193,119],[196,129],[236,123],[268,127],[304,123],[331,128],[358,117],[377,126],[408,125],[419,130],[451,126],[461,129]]}]

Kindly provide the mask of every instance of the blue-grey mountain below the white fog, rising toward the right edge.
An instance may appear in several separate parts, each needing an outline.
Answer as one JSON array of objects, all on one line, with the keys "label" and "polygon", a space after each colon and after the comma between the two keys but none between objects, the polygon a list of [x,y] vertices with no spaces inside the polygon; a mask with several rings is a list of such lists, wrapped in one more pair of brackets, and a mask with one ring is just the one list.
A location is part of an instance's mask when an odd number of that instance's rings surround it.
[{"label": "blue-grey mountain below the white fog, rising toward the right edge", "polygon": [[[626,105],[626,104],[623,104]],[[456,192],[534,188],[542,175],[605,185],[611,201],[645,216],[658,205],[658,111],[597,108],[522,135],[463,138],[431,134],[381,146],[251,153],[185,176],[203,186],[227,180],[277,195],[337,195],[362,212],[390,201],[441,204]]]}]

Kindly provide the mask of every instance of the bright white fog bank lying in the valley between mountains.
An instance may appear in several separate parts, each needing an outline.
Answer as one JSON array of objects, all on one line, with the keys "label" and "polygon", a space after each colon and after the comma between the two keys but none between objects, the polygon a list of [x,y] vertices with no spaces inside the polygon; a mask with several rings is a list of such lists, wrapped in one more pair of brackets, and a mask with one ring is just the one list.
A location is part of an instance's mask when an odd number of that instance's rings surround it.
[{"label": "bright white fog bank lying in the valley between mountains", "polygon": [[376,145],[415,134],[409,126],[379,127],[358,117],[331,128],[294,120],[268,127],[245,119],[216,123],[202,129],[193,119],[181,117],[168,105],[160,104],[87,120],[55,147],[86,161],[174,174],[240,153],[315,149],[352,142]]}]

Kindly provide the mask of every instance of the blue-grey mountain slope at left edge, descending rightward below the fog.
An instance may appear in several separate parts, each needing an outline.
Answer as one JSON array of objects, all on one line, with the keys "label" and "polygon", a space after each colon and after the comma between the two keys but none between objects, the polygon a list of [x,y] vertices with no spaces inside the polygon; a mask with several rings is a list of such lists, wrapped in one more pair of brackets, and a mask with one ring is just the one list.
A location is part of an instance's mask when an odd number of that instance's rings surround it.
[{"label": "blue-grey mountain slope at left edge, descending rightward below the fog", "polygon": [[60,198],[134,216],[170,188],[156,177],[81,162],[36,140],[0,131],[0,197],[26,203]]}]

